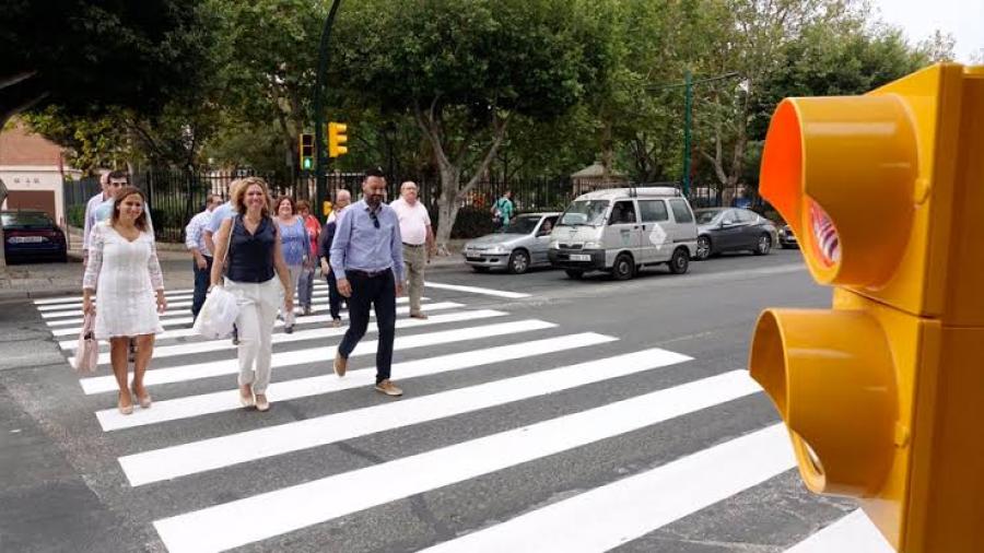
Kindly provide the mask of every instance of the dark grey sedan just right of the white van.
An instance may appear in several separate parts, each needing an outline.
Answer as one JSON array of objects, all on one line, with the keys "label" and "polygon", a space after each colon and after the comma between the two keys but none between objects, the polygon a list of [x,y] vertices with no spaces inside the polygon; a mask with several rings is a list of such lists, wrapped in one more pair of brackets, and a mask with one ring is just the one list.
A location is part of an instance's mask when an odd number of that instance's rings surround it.
[{"label": "dark grey sedan just right of the white van", "polygon": [[723,251],[751,251],[764,256],[775,244],[775,225],[754,211],[739,208],[696,210],[698,248],[695,259]]}]

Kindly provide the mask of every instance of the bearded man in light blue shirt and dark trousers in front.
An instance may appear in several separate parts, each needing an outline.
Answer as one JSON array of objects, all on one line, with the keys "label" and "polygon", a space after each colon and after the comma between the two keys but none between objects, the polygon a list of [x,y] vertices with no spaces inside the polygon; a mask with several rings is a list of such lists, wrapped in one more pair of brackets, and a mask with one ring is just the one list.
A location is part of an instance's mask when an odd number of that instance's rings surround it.
[{"label": "bearded man in light blue shirt and dark trousers in front", "polygon": [[370,308],[375,307],[379,341],[376,349],[376,390],[387,396],[403,391],[389,381],[396,331],[396,298],[402,295],[403,242],[400,221],[383,203],[386,179],[370,169],[362,181],[363,199],[338,219],[329,262],[338,291],[349,298],[349,331],[335,355],[335,374],[345,375],[349,355],[365,336]]}]

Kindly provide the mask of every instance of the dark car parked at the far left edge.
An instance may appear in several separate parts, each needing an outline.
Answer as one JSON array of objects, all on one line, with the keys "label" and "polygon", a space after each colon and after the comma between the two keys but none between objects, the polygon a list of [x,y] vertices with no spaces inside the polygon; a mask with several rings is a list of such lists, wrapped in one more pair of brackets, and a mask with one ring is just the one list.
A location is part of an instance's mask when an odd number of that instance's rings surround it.
[{"label": "dark car parked at the far left edge", "polygon": [[65,233],[44,211],[0,211],[8,262],[68,260]]}]

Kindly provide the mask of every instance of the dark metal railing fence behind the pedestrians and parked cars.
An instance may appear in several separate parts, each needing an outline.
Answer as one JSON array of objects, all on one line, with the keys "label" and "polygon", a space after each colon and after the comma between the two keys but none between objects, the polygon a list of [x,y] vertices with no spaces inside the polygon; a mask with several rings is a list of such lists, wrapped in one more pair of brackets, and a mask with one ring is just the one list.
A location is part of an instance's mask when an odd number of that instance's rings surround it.
[{"label": "dark metal railing fence behind the pedestrians and parked cars", "polygon": [[[227,199],[232,181],[246,176],[263,177],[274,197],[290,196],[309,200],[316,197],[316,180],[313,175],[304,175],[285,183],[272,175],[258,175],[244,169],[208,172],[155,169],[134,175],[132,180],[147,195],[157,239],[180,242],[184,239],[185,226],[203,209],[208,195],[216,193]],[[362,196],[362,180],[361,173],[330,174],[327,199],[333,200],[338,190],[344,189],[352,192],[353,199],[358,200]],[[400,184],[405,180],[417,183],[420,201],[436,221],[437,199],[441,195],[440,179],[433,176],[391,175],[387,178],[388,199],[399,196]],[[478,183],[469,192],[462,195],[458,199],[458,208],[466,211],[489,211],[495,199],[506,190],[512,190],[513,201],[520,212],[562,211],[574,199],[574,187],[567,178],[544,177],[509,181],[492,179]],[[85,203],[98,191],[98,179],[95,177],[66,181],[65,202],[71,224],[81,224]],[[724,189],[698,185],[690,190],[689,199],[694,209],[721,205],[748,207],[759,212],[770,209],[754,189],[745,187]]]}]

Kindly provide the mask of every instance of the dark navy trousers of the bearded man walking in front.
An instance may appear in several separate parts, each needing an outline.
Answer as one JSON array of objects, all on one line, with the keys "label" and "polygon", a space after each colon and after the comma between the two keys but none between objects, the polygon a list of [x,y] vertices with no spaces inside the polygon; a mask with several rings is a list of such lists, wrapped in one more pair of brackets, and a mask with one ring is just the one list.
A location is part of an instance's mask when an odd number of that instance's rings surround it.
[{"label": "dark navy trousers of the bearded man walking in front", "polygon": [[342,357],[348,358],[352,350],[365,336],[368,328],[370,307],[376,309],[376,327],[379,329],[379,344],[376,348],[376,384],[389,378],[393,364],[393,339],[396,330],[396,281],[393,271],[376,276],[367,276],[355,271],[345,272],[352,285],[349,298],[349,331],[338,346]]}]

